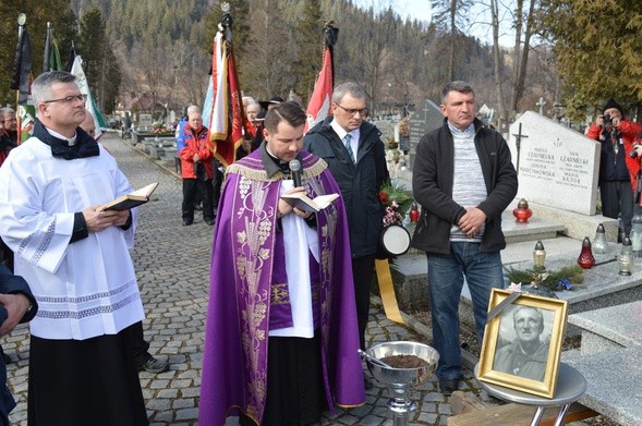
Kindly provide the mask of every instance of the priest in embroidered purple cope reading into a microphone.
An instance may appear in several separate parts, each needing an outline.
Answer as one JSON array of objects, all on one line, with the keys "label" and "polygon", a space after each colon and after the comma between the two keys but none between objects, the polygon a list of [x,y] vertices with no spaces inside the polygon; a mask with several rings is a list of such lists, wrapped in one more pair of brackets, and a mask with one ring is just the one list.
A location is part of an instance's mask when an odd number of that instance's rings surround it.
[{"label": "priest in embroidered purple cope reading into a microphone", "polygon": [[[305,112],[282,102],[265,141],[226,171],[211,258],[198,423],[308,425],[365,402],[342,198],[311,214],[284,193],[340,194],[301,151]],[[289,162],[300,160],[301,186]]]}]

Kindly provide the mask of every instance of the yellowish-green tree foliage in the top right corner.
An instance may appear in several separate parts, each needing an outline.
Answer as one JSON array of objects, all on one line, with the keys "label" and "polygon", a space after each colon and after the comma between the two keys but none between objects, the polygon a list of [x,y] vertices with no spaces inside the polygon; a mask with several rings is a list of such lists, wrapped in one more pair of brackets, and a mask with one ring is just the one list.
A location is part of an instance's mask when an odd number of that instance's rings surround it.
[{"label": "yellowish-green tree foliage in the top right corner", "polygon": [[554,45],[566,87],[567,113],[618,99],[642,100],[642,9],[640,1],[543,1],[540,31]]}]

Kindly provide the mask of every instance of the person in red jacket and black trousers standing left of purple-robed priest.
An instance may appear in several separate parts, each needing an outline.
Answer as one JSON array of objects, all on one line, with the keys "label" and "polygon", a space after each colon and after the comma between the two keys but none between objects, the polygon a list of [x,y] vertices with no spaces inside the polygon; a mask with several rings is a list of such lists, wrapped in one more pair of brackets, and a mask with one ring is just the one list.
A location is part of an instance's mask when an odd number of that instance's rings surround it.
[{"label": "person in red jacket and black trousers standing left of purple-robed priest", "polygon": [[194,223],[194,198],[201,194],[203,221],[214,224],[214,155],[209,131],[203,125],[201,112],[190,112],[185,125],[185,145],[179,151],[183,178],[183,227]]}]

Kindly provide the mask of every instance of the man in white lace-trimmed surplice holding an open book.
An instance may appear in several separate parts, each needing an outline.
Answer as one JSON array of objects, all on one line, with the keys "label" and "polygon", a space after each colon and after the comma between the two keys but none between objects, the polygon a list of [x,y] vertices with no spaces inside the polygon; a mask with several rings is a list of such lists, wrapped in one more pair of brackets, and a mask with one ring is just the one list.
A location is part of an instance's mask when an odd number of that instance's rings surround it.
[{"label": "man in white lace-trimmed surplice holding an open book", "polygon": [[132,188],[78,125],[66,72],[32,86],[33,136],[0,168],[0,235],[39,311],[31,322],[28,424],[147,425],[130,339],[144,318],[129,248],[136,212],[97,211]]}]

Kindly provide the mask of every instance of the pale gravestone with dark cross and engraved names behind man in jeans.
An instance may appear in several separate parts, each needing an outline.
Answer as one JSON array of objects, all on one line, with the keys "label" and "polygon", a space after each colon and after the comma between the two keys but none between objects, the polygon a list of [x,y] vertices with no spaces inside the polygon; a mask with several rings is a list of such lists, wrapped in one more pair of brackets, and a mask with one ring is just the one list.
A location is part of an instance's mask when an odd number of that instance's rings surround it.
[{"label": "pale gravestone with dark cross and engraved names behind man in jeans", "polygon": [[599,143],[533,111],[509,131],[518,197],[545,206],[595,215]]}]

